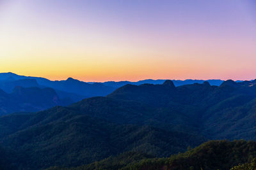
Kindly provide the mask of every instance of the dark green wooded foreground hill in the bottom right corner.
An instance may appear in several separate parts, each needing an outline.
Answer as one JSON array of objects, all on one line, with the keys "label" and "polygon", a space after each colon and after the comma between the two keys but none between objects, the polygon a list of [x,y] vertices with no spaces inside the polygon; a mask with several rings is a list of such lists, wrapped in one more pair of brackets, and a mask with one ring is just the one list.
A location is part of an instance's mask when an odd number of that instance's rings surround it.
[{"label": "dark green wooded foreground hill in the bottom right corner", "polygon": [[209,141],[168,159],[148,159],[124,169],[223,169],[252,160],[256,155],[254,141]]}]

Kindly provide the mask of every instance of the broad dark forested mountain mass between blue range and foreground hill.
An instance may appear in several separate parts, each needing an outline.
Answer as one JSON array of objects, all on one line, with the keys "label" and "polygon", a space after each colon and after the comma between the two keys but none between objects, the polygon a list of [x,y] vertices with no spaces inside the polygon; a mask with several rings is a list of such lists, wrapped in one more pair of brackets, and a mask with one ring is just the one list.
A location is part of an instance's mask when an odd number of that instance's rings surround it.
[{"label": "broad dark forested mountain mass between blue range and foreground hill", "polygon": [[[26,90],[18,88],[13,94],[22,96],[23,92]],[[3,91],[1,94],[6,95]],[[91,97],[67,107],[57,106],[36,113],[0,117],[0,146],[12,148],[15,151],[12,166],[23,169],[81,166],[111,156],[119,157],[122,153],[124,157],[126,153],[127,157],[137,153],[144,158],[170,157],[209,139],[255,140],[255,97],[255,81],[237,83],[228,80],[220,87],[209,82],[175,87],[170,80],[162,85],[125,85],[106,97]],[[242,144],[245,148],[255,147],[255,144]],[[234,148],[242,144],[214,145],[217,149],[214,154],[229,160],[227,155],[218,155],[221,154],[219,146],[236,150]],[[194,157],[203,159],[202,154],[206,150],[198,150],[194,150],[191,159],[188,159],[192,154],[189,152],[184,158],[178,157],[179,161],[187,161],[188,165],[196,167],[191,164],[196,160],[200,165]],[[233,151],[230,153],[233,154]],[[244,149],[234,151],[235,155],[240,153],[245,154]],[[255,152],[250,154],[250,157],[255,157]],[[232,160],[225,169],[246,163],[248,157]],[[108,160],[112,164],[113,159]],[[221,165],[221,160],[216,162]],[[144,163],[140,166],[140,161],[136,161],[138,169],[150,167]],[[184,164],[182,161],[179,165]],[[170,166],[153,163],[152,167],[160,169]],[[208,163],[203,167],[207,166],[208,169],[220,167]]]}]

